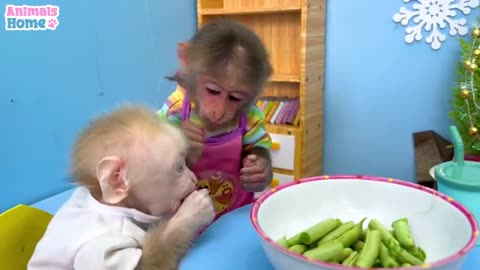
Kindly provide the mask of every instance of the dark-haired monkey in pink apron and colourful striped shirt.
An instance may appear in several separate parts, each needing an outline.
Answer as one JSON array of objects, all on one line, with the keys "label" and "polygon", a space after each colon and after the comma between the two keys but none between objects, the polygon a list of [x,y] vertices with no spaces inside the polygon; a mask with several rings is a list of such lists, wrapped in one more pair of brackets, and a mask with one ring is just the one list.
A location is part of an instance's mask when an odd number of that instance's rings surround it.
[{"label": "dark-haired monkey in pink apron and colourful striped shirt", "polygon": [[216,217],[253,201],[272,180],[271,138],[255,105],[272,74],[260,38],[226,19],[178,46],[178,82],[158,114],[191,141],[187,164],[210,190]]}]

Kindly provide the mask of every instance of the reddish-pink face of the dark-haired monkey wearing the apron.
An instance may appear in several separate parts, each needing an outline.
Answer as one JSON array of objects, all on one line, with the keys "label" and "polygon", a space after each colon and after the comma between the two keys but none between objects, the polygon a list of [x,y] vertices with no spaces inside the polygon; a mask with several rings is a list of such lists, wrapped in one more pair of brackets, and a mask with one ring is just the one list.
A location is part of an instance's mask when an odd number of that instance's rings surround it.
[{"label": "reddish-pink face of the dark-haired monkey wearing the apron", "polygon": [[221,84],[211,77],[200,77],[196,83],[197,110],[207,126],[217,128],[231,122],[250,102],[248,88],[231,83]]}]

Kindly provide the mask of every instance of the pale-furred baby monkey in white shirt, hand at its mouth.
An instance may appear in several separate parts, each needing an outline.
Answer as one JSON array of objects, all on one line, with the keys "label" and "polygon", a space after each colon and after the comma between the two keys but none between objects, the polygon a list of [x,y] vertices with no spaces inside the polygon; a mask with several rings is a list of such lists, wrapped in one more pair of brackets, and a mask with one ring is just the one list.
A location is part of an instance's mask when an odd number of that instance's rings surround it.
[{"label": "pale-furred baby monkey in white shirt, hand at its mouth", "polygon": [[127,105],[95,119],[73,146],[79,187],[50,222],[28,269],[177,269],[215,216],[207,190],[196,190],[185,165],[187,150],[184,134],[145,107]]}]

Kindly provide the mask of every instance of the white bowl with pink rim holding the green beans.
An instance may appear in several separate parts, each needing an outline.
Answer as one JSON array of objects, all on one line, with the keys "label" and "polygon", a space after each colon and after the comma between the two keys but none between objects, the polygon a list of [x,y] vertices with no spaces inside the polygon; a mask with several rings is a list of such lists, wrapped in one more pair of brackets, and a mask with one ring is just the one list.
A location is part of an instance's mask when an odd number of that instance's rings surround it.
[{"label": "white bowl with pink rim holding the green beans", "polygon": [[307,260],[275,241],[324,219],[358,222],[364,217],[364,228],[373,218],[388,228],[392,221],[408,218],[416,243],[427,254],[426,263],[395,269],[461,269],[478,238],[478,225],[461,204],[433,189],[391,178],[320,176],[297,180],[265,192],[250,213],[276,270],[359,269]]}]

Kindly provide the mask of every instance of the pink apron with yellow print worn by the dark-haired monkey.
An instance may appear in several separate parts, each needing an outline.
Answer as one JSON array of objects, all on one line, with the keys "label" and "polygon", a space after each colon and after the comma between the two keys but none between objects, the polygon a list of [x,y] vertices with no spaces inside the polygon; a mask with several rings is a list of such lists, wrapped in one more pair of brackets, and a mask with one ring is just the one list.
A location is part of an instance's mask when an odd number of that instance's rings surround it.
[{"label": "pink apron with yellow print worn by the dark-haired monkey", "polygon": [[[190,101],[184,98],[182,121],[190,115]],[[253,202],[254,194],[245,191],[240,184],[243,135],[246,115],[234,131],[207,138],[201,157],[192,169],[198,178],[198,187],[207,188],[215,207],[215,220],[221,215]]]}]

